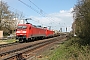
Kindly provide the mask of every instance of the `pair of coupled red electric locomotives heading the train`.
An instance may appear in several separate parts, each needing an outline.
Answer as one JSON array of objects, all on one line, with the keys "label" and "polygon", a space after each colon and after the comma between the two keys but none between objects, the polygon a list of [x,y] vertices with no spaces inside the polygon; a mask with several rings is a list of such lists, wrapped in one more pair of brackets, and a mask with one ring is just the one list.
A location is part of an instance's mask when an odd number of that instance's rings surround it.
[{"label": "pair of coupled red electric locomotives heading the train", "polygon": [[38,37],[51,37],[53,34],[54,31],[48,30],[47,28],[37,27],[30,23],[19,24],[16,29],[16,39],[18,39],[20,42],[25,42]]}]

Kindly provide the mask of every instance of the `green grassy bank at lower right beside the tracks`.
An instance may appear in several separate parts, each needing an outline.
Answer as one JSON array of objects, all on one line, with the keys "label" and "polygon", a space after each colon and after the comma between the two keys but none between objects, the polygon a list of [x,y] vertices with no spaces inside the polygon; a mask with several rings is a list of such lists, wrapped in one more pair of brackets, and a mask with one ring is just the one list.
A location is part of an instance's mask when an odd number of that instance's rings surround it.
[{"label": "green grassy bank at lower right beside the tracks", "polygon": [[81,45],[80,40],[75,37],[60,44],[60,47],[49,55],[48,60],[90,60],[90,46]]}]

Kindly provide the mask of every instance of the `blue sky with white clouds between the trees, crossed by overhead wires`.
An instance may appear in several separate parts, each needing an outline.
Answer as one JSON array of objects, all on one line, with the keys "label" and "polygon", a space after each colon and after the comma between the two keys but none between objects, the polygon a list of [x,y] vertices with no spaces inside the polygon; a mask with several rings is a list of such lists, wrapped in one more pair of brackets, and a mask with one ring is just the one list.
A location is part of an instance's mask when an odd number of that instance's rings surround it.
[{"label": "blue sky with white clouds between the trees, crossed by overhead wires", "polygon": [[[7,2],[10,10],[23,12],[24,18],[34,25],[51,26],[53,30],[71,31],[73,8],[77,0],[2,0]],[[23,3],[24,4],[23,4]],[[28,6],[26,6],[26,5]]]}]

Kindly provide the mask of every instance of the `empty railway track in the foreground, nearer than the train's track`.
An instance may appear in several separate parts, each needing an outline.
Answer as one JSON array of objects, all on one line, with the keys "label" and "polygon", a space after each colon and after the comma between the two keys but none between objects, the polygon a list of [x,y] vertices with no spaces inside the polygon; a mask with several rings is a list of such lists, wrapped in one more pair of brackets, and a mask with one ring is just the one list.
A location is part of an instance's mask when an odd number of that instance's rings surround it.
[{"label": "empty railway track in the foreground, nearer than the train's track", "polygon": [[[11,49],[9,51],[4,51],[0,53],[0,59],[1,60],[25,60],[28,57],[30,57],[30,54],[27,52],[31,52],[37,48],[40,48],[44,45],[48,45],[50,43],[53,43],[57,40],[58,37],[50,38],[50,39],[45,39],[41,40],[36,43],[27,43],[26,46],[21,47],[21,48],[15,48]],[[55,40],[56,39],[56,40]]]}]

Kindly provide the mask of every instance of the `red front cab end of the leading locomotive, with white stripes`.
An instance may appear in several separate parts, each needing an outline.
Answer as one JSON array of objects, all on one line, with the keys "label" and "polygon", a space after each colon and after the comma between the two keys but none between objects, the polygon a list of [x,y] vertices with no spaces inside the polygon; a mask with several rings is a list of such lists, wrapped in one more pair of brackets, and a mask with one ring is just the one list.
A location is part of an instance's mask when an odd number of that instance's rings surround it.
[{"label": "red front cab end of the leading locomotive, with white stripes", "polygon": [[16,29],[16,39],[19,39],[19,41],[27,40],[31,35],[31,26],[31,24],[19,24]]}]

